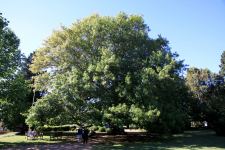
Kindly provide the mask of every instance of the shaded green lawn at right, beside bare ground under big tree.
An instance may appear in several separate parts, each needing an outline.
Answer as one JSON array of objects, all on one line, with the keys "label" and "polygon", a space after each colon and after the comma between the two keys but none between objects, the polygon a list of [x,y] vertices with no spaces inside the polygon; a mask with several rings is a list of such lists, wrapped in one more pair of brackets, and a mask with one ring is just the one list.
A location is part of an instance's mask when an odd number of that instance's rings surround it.
[{"label": "shaded green lawn at right, beside bare ground under big tree", "polygon": [[186,131],[161,140],[135,143],[97,144],[93,149],[132,149],[132,150],[224,150],[225,137],[216,136],[211,130]]}]

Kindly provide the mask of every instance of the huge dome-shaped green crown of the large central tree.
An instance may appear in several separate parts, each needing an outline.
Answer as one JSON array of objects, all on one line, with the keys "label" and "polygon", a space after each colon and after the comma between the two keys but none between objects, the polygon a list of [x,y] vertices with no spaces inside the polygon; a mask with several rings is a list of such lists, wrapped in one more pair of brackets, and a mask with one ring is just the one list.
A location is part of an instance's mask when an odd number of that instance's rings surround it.
[{"label": "huge dome-shaped green crown of the large central tree", "polygon": [[168,41],[150,38],[149,31],[142,17],[120,13],[93,15],[53,32],[31,64],[38,74],[34,87],[47,94],[30,109],[27,123],[134,122],[161,132],[181,131],[185,68]]}]

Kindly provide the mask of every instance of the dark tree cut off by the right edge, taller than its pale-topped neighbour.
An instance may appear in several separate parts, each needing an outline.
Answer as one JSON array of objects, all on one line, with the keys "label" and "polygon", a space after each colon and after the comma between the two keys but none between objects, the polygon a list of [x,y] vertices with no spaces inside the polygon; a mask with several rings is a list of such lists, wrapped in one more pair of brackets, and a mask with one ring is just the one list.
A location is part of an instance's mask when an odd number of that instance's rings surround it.
[{"label": "dark tree cut off by the right edge, taller than its pale-topped neighbour", "polygon": [[225,136],[225,81],[224,62],[225,52],[221,55],[220,74],[215,75],[204,93],[206,102],[207,121],[218,135]]}]

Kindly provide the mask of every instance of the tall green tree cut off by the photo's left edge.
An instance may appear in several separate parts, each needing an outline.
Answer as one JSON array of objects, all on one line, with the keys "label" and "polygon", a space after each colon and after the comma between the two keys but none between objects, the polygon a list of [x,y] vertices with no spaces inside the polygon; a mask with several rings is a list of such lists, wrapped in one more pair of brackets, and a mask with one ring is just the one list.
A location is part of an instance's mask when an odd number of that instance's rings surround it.
[{"label": "tall green tree cut off by the photo's left edge", "polygon": [[29,83],[21,72],[19,39],[0,15],[0,121],[8,129],[22,127],[28,107]]}]

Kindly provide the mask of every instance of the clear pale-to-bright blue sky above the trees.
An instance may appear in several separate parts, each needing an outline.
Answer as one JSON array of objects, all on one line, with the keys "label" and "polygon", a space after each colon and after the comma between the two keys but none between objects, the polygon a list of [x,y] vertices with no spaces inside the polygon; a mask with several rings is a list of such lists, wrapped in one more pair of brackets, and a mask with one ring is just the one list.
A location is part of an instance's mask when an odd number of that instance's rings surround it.
[{"label": "clear pale-to-bright blue sky above the trees", "polygon": [[0,0],[0,12],[28,55],[54,29],[93,13],[139,14],[151,37],[161,34],[190,67],[219,71],[225,50],[225,0]]}]

